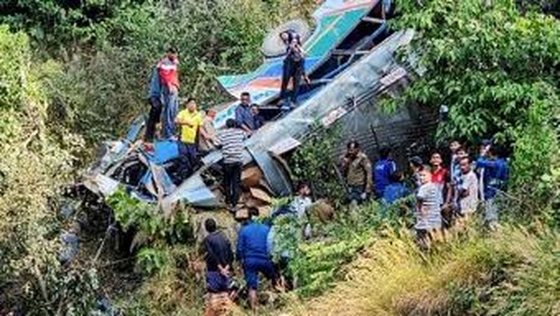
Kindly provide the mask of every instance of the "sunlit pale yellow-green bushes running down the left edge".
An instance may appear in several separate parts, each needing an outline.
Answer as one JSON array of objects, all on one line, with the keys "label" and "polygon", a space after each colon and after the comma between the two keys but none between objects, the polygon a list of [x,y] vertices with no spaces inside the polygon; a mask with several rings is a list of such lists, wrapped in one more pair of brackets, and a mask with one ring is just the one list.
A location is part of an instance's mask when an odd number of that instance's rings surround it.
[{"label": "sunlit pale yellow-green bushes running down the left edge", "polygon": [[97,278],[94,270],[59,264],[56,217],[59,185],[71,179],[65,148],[80,141],[52,133],[43,65],[31,62],[28,43],[0,26],[0,313],[86,313]]}]

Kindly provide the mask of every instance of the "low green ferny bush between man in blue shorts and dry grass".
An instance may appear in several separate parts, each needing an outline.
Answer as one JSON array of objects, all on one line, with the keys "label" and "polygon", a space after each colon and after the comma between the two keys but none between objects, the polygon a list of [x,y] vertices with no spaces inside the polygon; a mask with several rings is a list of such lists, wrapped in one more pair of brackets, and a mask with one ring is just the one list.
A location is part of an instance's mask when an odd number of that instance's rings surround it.
[{"label": "low green ferny bush between man in blue shorts and dry grass", "polygon": [[297,295],[316,296],[330,289],[344,277],[346,265],[384,234],[382,228],[401,227],[397,210],[382,212],[381,208],[377,202],[361,206],[353,213],[339,208],[335,220],[327,223],[311,217],[311,240],[302,238],[303,221],[281,217],[274,222],[280,240],[276,247],[290,253],[287,272],[297,283]]}]

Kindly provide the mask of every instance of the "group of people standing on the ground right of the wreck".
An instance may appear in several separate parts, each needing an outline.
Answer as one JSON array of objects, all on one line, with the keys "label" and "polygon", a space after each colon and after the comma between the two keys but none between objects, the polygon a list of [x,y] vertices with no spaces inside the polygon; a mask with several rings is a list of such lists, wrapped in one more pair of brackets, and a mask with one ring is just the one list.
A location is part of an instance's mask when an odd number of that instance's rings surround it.
[{"label": "group of people standing on the ground right of the wreck", "polygon": [[419,156],[410,157],[412,185],[407,187],[403,171],[398,170],[390,149],[381,149],[379,159],[372,165],[358,142],[348,143],[340,166],[350,206],[355,207],[370,196],[388,206],[414,194],[414,229],[423,247],[429,247],[434,236],[452,225],[464,226],[477,210],[482,210],[484,222],[491,229],[495,228],[498,222],[496,196],[505,192],[509,173],[500,146],[484,141],[478,156],[471,157],[461,143],[452,141],[449,151],[448,166],[439,151],[430,155],[428,164]]}]

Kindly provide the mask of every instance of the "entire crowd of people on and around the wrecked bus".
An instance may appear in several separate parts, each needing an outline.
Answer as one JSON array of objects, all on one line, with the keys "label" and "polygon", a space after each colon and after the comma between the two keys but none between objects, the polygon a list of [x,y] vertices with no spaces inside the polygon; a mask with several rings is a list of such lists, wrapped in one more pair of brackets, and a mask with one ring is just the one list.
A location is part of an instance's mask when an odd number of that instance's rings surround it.
[{"label": "entire crowd of people on and around the wrecked bus", "polygon": [[[281,106],[295,106],[300,81],[309,81],[304,74],[304,52],[300,38],[292,31],[281,34],[286,44],[286,59],[283,64],[281,85]],[[243,164],[244,140],[260,129],[265,123],[259,107],[251,103],[251,95],[243,92],[235,109],[235,119],[226,120],[225,127],[216,129],[214,119],[216,109],[209,107],[202,113],[195,99],[181,102],[179,110],[179,59],[174,49],[169,49],[153,70],[149,85],[151,110],[146,122],[146,143],[155,139],[158,122],[162,122],[160,138],[177,141],[179,155],[183,161],[183,176],[186,178],[200,164],[200,155],[213,150],[221,150],[223,190],[225,204],[230,210],[237,210]],[[288,96],[288,82],[292,80],[292,94]],[[379,150],[379,159],[372,164],[370,157],[360,148],[357,141],[347,144],[346,155],[339,164],[344,178],[344,187],[353,210],[369,199],[378,199],[384,209],[414,196],[414,230],[421,247],[430,247],[434,236],[452,225],[463,226],[477,210],[481,210],[489,227],[498,221],[496,197],[505,190],[508,176],[507,159],[500,148],[491,142],[480,146],[477,157],[472,157],[458,141],[449,145],[449,164],[444,164],[442,153],[435,151],[425,163],[419,156],[409,157],[408,172],[398,168],[391,149]],[[405,173],[411,177],[407,185]],[[230,240],[222,234],[216,221],[209,218],[204,223],[208,232],[204,239],[204,253],[207,266],[207,315],[219,313],[223,303],[231,299],[232,273],[235,257],[241,264],[248,289],[248,301],[257,306],[259,273],[272,280],[275,287],[286,284],[281,277],[281,269],[290,259],[287,250],[280,249],[280,260],[273,262],[272,253],[278,251],[279,236],[274,220],[279,217],[302,219],[314,203],[311,201],[310,187],[305,182],[295,186],[295,196],[290,203],[271,215],[270,222],[253,220],[258,209],[248,208],[248,219],[242,224],[237,236],[237,251],[232,252]],[[302,231],[304,238],[310,236],[309,224]]]}]

